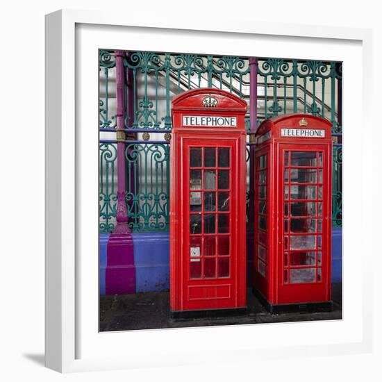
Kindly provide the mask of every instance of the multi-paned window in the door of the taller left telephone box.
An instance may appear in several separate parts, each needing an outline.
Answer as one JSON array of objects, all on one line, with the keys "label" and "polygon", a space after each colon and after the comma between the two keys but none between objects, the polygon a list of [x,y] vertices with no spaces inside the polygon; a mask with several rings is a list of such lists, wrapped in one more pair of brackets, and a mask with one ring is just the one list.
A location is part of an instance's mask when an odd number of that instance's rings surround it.
[{"label": "multi-paned window in the door of the taller left telephone box", "polygon": [[[194,165],[193,150],[200,149],[200,165]],[[228,153],[228,155],[227,155]],[[224,155],[225,154],[225,155]],[[200,233],[192,233],[190,225],[190,279],[221,279],[231,275],[231,148],[230,147],[190,147],[190,182],[189,182],[189,215],[200,219]],[[211,158],[215,158],[212,160]],[[222,158],[222,160],[221,160]],[[228,160],[228,163],[224,163]],[[222,163],[221,163],[222,162]],[[200,188],[192,189],[192,171],[201,172]],[[211,182],[206,181],[206,174],[212,174]],[[215,174],[215,176],[213,176]],[[228,175],[228,178],[220,175]],[[208,178],[208,176],[207,176]],[[220,179],[225,180],[220,182]],[[209,183],[209,184],[206,184]],[[200,210],[191,210],[192,194],[200,195]],[[206,209],[206,195],[212,196],[210,208]],[[224,197],[226,197],[224,199]],[[194,217],[194,218],[193,218]],[[207,232],[206,217],[213,217],[213,232]],[[225,224],[224,224],[225,223]],[[212,231],[212,230],[211,230]],[[192,256],[192,246],[199,243],[199,256]],[[213,243],[212,248],[210,244]]]}]

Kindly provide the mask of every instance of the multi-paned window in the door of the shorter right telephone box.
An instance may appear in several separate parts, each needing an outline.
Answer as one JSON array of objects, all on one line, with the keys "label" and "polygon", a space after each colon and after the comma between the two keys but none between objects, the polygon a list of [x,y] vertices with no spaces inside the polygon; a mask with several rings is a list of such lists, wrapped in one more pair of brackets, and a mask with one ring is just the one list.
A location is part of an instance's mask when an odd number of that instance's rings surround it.
[{"label": "multi-paned window in the door of the shorter right telephone box", "polygon": [[[306,156],[304,158],[304,155]],[[284,151],[283,283],[322,281],[322,151]],[[296,157],[304,162],[296,164]],[[308,178],[308,179],[307,179]],[[299,194],[302,190],[302,195]],[[293,197],[297,193],[297,197]],[[299,209],[299,211],[298,211]]]}]

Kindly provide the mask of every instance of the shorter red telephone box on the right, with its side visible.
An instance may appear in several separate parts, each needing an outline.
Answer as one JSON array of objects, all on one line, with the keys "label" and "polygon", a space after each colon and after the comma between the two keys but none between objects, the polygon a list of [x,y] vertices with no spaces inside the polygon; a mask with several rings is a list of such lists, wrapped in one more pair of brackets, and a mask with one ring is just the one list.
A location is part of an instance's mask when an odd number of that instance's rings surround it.
[{"label": "shorter red telephone box on the right, with its side visible", "polygon": [[331,309],[331,123],[265,120],[256,132],[255,291],[276,313]]}]

